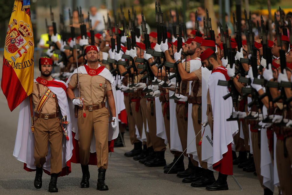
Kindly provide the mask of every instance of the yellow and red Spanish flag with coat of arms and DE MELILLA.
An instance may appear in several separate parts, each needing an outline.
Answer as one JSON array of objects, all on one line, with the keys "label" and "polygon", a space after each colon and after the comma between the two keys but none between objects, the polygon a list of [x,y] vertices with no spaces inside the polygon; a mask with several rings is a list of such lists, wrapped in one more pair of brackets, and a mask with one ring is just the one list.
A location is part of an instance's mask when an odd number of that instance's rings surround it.
[{"label": "yellow and red Spanish flag with coat of arms and DE MELILLA", "polygon": [[1,80],[1,89],[11,111],[32,93],[33,55],[30,0],[15,0],[7,27]]}]

